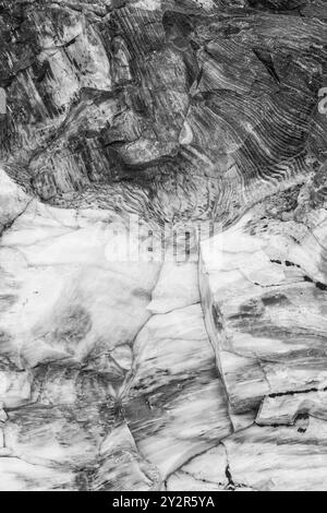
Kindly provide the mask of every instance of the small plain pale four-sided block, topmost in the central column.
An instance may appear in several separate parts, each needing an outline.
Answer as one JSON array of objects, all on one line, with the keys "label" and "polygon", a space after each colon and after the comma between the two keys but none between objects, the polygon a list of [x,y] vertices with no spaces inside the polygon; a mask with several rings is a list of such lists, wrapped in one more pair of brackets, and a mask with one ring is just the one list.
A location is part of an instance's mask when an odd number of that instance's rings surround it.
[{"label": "small plain pale four-sided block, topmost in the central column", "polygon": [[197,262],[164,262],[148,310],[168,313],[196,302],[199,302]]}]

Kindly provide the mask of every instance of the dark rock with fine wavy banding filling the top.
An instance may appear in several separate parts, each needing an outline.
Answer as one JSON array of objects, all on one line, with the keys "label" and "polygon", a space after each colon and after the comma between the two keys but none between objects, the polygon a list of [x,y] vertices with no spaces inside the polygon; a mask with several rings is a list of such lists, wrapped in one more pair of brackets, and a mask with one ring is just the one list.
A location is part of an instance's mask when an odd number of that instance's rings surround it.
[{"label": "dark rock with fine wavy banding filling the top", "polygon": [[51,202],[132,180],[156,217],[233,217],[325,151],[324,9],[280,7],[3,2],[3,159]]}]

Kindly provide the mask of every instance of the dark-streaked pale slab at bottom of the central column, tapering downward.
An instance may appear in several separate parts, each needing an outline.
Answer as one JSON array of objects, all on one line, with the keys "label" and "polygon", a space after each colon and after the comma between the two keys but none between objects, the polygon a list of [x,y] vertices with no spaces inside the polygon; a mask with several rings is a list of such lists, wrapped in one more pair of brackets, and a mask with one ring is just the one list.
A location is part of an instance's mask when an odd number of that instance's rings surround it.
[{"label": "dark-streaked pale slab at bottom of the central column, tapering downward", "polygon": [[150,396],[150,408],[143,397],[129,406],[129,425],[137,446],[164,478],[231,432],[226,403],[219,399],[225,393],[219,382],[206,383],[203,378],[201,385],[177,384],[175,389],[175,396],[171,393],[166,401]]}]

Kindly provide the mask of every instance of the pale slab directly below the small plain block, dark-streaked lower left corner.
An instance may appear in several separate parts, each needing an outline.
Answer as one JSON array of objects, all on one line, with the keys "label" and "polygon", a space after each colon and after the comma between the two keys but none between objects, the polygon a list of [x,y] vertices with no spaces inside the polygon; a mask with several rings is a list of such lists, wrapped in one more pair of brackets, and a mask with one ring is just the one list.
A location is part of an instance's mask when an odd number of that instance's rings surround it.
[{"label": "pale slab directly below the small plain block, dark-streaked lower left corner", "polygon": [[143,393],[202,371],[215,371],[199,305],[154,315],[140,332],[133,350],[133,384]]}]

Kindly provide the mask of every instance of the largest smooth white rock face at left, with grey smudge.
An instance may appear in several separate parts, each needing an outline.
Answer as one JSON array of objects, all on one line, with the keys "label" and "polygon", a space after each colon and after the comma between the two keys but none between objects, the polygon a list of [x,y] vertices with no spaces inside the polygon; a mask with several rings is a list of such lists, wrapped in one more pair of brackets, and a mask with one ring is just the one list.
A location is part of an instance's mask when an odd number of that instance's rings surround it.
[{"label": "largest smooth white rock face at left, with grey smudge", "polygon": [[20,368],[81,362],[134,339],[160,264],[116,259],[113,231],[128,249],[123,220],[109,212],[34,203],[4,234],[0,295],[12,303],[0,320],[3,356]]}]

